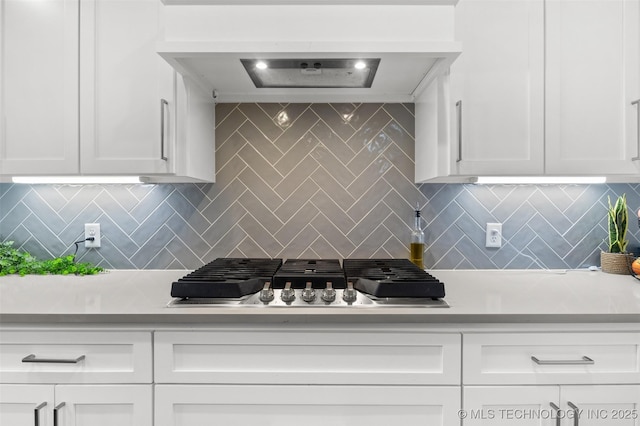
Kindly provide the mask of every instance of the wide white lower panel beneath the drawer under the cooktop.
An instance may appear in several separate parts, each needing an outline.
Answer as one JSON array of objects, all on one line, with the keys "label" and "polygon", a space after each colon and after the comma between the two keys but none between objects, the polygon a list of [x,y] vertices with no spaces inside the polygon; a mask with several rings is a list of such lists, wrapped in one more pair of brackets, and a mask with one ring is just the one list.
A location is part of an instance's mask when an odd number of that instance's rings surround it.
[{"label": "wide white lower panel beneath the drawer under the cooktop", "polygon": [[459,426],[460,388],[158,385],[156,426]]}]

